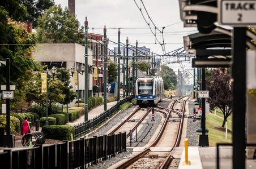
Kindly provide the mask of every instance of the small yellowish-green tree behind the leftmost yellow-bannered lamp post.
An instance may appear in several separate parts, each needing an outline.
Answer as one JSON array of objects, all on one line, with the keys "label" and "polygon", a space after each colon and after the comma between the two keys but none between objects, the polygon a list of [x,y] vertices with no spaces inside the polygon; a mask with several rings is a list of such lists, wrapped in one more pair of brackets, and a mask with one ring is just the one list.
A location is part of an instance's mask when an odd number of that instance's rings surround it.
[{"label": "small yellowish-green tree behind the leftmost yellow-bannered lamp post", "polygon": [[[61,103],[65,95],[62,94],[63,83],[59,79],[48,78],[48,103],[50,107],[49,114],[52,112],[52,103]],[[44,105],[46,104],[46,92],[42,92],[41,73],[36,73],[31,81],[25,83],[25,100],[35,101],[40,104],[42,110],[42,117],[44,117]]]}]

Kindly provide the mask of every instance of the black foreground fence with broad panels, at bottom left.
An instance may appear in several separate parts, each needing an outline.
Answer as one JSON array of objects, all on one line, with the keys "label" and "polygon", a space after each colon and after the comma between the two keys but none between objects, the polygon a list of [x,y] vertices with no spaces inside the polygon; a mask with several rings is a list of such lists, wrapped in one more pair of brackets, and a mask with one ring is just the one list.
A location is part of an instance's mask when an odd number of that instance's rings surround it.
[{"label": "black foreground fence with broad panels, at bottom left", "polygon": [[86,168],[126,151],[126,132],[35,148],[5,149],[3,168]]}]

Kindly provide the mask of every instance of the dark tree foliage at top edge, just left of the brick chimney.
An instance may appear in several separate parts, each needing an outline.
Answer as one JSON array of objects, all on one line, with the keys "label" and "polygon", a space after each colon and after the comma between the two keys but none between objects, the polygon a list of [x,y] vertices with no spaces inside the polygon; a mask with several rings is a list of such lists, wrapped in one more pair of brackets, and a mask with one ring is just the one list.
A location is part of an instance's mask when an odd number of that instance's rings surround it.
[{"label": "dark tree foliage at top edge, just left of the brick chimney", "polygon": [[33,28],[37,26],[37,18],[44,13],[44,11],[54,5],[54,0],[20,0],[27,8],[28,15],[21,21],[32,23]]}]

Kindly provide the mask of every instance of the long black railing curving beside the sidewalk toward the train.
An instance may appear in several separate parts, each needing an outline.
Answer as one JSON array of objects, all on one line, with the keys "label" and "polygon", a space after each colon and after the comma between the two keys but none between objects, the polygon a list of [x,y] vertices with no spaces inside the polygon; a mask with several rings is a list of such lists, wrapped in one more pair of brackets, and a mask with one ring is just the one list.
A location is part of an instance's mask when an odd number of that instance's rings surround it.
[{"label": "long black railing curving beside the sidewalk toward the train", "polygon": [[131,101],[133,98],[134,98],[134,95],[126,97],[125,99],[118,101],[118,103],[116,105],[114,105],[114,106],[112,106],[112,108],[106,110],[106,112],[101,113],[100,115],[98,115],[97,117],[95,117],[93,119],[89,119],[87,122],[84,122],[84,123],[74,126],[75,127],[74,138],[76,139],[78,137],[81,137],[81,136],[85,135],[87,132],[93,130],[96,126],[98,126],[99,124],[103,123],[106,119],[111,117],[112,114],[120,108],[120,105],[126,103],[126,101]]}]

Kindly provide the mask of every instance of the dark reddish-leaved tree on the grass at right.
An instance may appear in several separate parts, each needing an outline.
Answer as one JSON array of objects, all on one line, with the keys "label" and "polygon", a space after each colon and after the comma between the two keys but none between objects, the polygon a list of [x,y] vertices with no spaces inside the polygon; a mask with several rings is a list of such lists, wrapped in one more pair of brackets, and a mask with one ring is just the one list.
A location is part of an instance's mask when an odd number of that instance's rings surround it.
[{"label": "dark reddish-leaved tree on the grass at right", "polygon": [[206,100],[210,103],[210,109],[219,108],[224,115],[222,127],[226,119],[232,114],[231,107],[231,74],[229,69],[212,69],[211,77],[206,78],[206,90],[210,97]]}]

